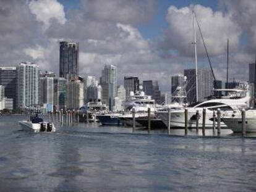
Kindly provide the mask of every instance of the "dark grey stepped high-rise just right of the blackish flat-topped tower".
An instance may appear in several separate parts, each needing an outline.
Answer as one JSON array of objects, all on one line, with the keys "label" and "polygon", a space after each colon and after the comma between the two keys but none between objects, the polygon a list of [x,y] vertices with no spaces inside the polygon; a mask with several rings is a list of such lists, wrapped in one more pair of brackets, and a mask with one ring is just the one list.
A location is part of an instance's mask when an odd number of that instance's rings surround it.
[{"label": "dark grey stepped high-rise just right of the blackish flat-topped tower", "polygon": [[157,104],[161,104],[161,91],[159,90],[157,80],[143,81],[143,90],[145,94],[151,95]]}]

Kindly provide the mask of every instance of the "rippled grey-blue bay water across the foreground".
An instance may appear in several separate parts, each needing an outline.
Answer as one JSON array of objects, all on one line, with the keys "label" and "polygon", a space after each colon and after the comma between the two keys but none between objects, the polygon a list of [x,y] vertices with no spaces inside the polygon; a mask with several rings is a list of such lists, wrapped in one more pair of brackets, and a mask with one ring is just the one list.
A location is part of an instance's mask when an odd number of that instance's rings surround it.
[{"label": "rippled grey-blue bay water across the foreground", "polygon": [[20,131],[0,117],[0,191],[255,191],[256,140],[132,134],[81,123]]}]

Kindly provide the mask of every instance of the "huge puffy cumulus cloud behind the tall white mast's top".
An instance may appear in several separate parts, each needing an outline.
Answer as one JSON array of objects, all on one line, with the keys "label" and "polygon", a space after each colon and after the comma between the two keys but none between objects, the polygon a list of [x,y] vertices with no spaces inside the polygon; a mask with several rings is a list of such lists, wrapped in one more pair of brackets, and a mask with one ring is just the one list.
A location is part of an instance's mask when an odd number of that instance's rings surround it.
[{"label": "huge puffy cumulus cloud behind the tall white mast's top", "polygon": [[[177,9],[171,6],[168,9],[166,20],[169,29],[165,32],[161,41],[161,48],[165,50],[174,49],[181,56],[192,56],[193,46],[193,16],[192,10],[195,10],[203,38],[207,44],[208,52],[211,56],[216,56],[226,52],[226,41],[229,38],[231,49],[237,49],[239,46],[239,37],[241,28],[231,19],[229,14],[224,15],[220,11],[213,12],[210,7],[200,5],[182,7]],[[197,48],[198,55],[205,55],[202,38],[200,37],[198,27]]]}]

